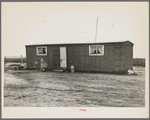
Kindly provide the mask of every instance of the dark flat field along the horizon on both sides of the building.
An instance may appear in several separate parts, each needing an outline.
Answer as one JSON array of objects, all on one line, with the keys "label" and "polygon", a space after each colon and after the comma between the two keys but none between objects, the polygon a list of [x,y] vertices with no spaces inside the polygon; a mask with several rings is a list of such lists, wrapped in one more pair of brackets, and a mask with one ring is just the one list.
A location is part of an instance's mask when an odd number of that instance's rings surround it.
[{"label": "dark flat field along the horizon on both sides of the building", "polygon": [[[21,62],[21,58],[5,58],[4,62]],[[23,58],[26,62],[26,58]],[[145,58],[133,58],[133,66],[145,66]]]}]

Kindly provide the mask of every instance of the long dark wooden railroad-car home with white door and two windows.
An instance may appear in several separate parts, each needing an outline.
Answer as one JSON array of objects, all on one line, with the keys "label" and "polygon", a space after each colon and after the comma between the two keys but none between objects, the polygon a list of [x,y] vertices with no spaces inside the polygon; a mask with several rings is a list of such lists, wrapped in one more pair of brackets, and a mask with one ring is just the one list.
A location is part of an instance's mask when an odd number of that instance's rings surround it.
[{"label": "long dark wooden railroad-car home with white door and two windows", "polygon": [[133,69],[133,43],[26,45],[27,68],[40,69],[41,61],[48,63],[48,70],[70,70],[73,65],[75,71],[125,72]]}]

